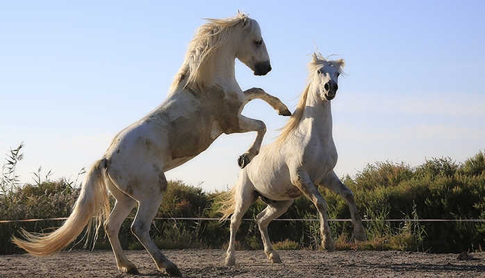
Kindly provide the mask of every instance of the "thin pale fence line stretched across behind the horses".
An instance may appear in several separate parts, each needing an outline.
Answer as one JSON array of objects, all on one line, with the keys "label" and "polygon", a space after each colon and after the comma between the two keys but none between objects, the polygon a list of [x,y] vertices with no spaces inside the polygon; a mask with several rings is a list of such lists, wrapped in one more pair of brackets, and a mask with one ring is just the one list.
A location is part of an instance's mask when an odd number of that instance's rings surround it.
[{"label": "thin pale fence line stretched across behind the horses", "polygon": [[[133,217],[128,217],[133,219]],[[23,220],[0,220],[1,223],[14,222],[37,222],[49,220],[67,220],[67,218],[37,218],[37,219],[23,219]],[[220,218],[154,218],[154,220],[217,220]],[[245,221],[254,221],[253,218],[242,218]],[[315,222],[320,219],[295,219],[295,218],[277,218],[273,221],[304,221]],[[352,222],[350,219],[329,219],[330,222]],[[485,222],[485,219],[363,219],[362,222]]]}]

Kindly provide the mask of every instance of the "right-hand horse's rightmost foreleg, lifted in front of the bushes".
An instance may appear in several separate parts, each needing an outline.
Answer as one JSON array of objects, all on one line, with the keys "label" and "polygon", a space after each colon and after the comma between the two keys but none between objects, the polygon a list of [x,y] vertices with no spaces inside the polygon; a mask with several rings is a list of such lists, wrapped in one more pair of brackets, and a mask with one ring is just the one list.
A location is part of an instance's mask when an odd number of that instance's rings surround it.
[{"label": "right-hand horse's rightmost foreleg, lifted in front of the bushes", "polygon": [[331,176],[325,179],[321,185],[329,188],[329,190],[334,191],[345,199],[345,202],[347,202],[347,205],[349,206],[352,224],[354,225],[354,238],[356,240],[366,240],[362,218],[357,210],[357,206],[355,205],[354,193],[352,193],[352,190],[347,188],[347,186],[345,186],[340,179],[338,179],[337,175],[333,171]]}]

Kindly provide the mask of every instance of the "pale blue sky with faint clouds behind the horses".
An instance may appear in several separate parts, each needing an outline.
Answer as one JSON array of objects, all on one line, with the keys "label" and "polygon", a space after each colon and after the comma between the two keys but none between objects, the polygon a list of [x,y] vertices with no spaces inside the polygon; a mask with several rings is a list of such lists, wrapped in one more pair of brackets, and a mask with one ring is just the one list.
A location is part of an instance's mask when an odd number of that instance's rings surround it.
[{"label": "pale blue sky with faint clouds behind the horses", "polygon": [[[314,42],[347,61],[332,101],[339,177],[485,149],[485,1],[165,2],[0,1],[0,153],[24,142],[22,181],[40,166],[75,179],[165,99],[203,18],[237,10],[261,25],[273,68],[253,76],[237,63],[243,90],[264,88],[293,111]],[[258,100],[243,114],[266,122],[265,142],[286,122]],[[167,177],[230,187],[254,136],[223,135]]]}]

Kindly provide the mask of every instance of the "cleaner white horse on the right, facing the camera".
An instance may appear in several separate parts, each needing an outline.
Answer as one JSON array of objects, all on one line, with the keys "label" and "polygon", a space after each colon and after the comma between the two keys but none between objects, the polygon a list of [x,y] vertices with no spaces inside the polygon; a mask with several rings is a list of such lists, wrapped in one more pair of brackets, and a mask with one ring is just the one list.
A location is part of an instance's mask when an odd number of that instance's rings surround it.
[{"label": "cleaner white horse on the right, facing the camera", "polygon": [[263,238],[265,254],[272,263],[281,263],[268,236],[268,224],[286,212],[293,199],[308,197],[320,213],[322,245],[334,251],[327,222],[327,202],[316,186],[324,186],[342,196],[350,208],[354,236],[365,240],[365,230],[357,211],[354,194],[334,172],[337,151],[332,138],[330,101],[336,96],[337,79],[345,61],[325,60],[314,54],[309,63],[309,83],[279,138],[261,149],[261,153],[239,175],[238,182],[221,197],[222,219],[231,217],[231,238],[226,265],[236,263],[234,242],[242,215],[258,197],[268,206],[258,214],[257,222]]}]

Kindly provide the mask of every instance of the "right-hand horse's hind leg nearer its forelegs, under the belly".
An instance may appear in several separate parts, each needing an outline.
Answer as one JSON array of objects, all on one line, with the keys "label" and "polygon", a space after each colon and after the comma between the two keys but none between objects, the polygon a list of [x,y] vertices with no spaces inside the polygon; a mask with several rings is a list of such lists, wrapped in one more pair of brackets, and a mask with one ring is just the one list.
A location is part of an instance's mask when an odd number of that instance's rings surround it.
[{"label": "right-hand horse's hind leg nearer its forelegs, under the belly", "polygon": [[261,211],[257,216],[259,231],[261,231],[261,238],[263,239],[263,245],[265,247],[265,254],[272,263],[281,263],[279,254],[273,250],[271,245],[270,235],[268,234],[268,224],[275,219],[279,218],[285,213],[288,208],[293,204],[293,199],[287,201],[274,202],[268,204],[266,208]]}]

